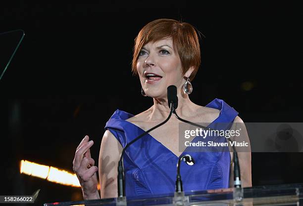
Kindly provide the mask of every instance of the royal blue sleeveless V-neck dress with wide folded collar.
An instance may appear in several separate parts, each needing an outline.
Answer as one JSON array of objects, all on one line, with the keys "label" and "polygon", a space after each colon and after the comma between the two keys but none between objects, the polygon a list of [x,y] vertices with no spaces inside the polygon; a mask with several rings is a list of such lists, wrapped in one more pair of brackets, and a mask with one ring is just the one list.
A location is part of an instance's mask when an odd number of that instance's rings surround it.
[{"label": "royal blue sleeveless V-neck dress with wide folded collar", "polygon": [[[238,112],[221,99],[206,105],[220,110],[219,117],[208,126],[213,129],[230,129]],[[125,120],[134,115],[116,110],[105,125],[121,143],[122,147],[144,132],[143,129]],[[216,124],[227,123],[227,124]],[[165,125],[164,125],[165,126]],[[227,142],[226,138],[223,142]],[[199,136],[192,142],[199,141]],[[228,150],[228,148],[227,148]],[[181,162],[181,177],[185,192],[229,187],[230,153],[191,152],[188,148],[181,155],[190,154],[194,165]],[[125,190],[127,197],[148,197],[171,194],[175,190],[178,158],[168,148],[145,135],[130,145],[123,156]]]}]

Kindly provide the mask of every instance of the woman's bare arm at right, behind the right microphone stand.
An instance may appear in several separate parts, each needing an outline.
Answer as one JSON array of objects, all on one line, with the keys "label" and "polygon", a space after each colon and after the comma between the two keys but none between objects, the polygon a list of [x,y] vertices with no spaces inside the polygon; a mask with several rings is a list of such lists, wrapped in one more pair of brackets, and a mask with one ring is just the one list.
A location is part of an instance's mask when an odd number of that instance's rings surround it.
[{"label": "woman's bare arm at right, behind the right microphone stand", "polygon": [[[235,147],[239,158],[242,187],[252,187],[252,153],[251,153],[250,139],[245,124],[243,123],[242,119],[239,116],[235,118],[234,124],[231,127],[231,130],[236,131],[237,129],[240,129],[240,136],[234,137],[231,140],[237,142],[245,141],[249,143],[249,147]],[[231,146],[230,146],[230,151],[233,151]],[[231,152],[230,154],[233,160],[233,152]],[[229,186],[234,187],[234,162],[230,167]]]}]

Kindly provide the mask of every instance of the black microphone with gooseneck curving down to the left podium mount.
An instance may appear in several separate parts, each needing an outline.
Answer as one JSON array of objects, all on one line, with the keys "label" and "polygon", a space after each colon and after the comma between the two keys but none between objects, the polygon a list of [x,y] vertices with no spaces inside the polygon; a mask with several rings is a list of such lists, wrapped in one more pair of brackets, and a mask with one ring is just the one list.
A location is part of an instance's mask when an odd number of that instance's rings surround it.
[{"label": "black microphone with gooseneck curving down to the left podium mount", "polygon": [[122,163],[123,154],[124,154],[125,150],[131,144],[136,142],[138,139],[140,139],[144,135],[148,134],[153,129],[165,124],[170,119],[173,111],[178,107],[178,97],[177,97],[177,87],[176,86],[171,85],[171,86],[167,87],[167,99],[168,99],[168,106],[170,108],[170,113],[169,113],[167,119],[164,122],[162,122],[158,125],[155,125],[151,129],[149,129],[149,130],[143,132],[142,134],[140,134],[138,137],[136,137],[135,139],[130,141],[128,144],[126,144],[125,147],[122,150],[120,160],[119,160],[119,163],[118,163],[118,176],[117,176],[117,181],[118,181],[118,184],[117,184],[117,186],[118,186],[118,199],[117,200],[118,201],[126,201],[125,200],[125,176],[124,176],[124,167],[123,167],[123,163]]}]

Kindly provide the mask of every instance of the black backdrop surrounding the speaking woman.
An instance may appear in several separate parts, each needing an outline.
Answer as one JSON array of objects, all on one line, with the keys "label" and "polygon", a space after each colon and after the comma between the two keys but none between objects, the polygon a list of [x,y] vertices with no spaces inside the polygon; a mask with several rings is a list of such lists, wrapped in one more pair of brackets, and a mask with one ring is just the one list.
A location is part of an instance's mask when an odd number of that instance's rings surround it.
[{"label": "black backdrop surrounding the speaking woman", "polygon": [[[202,64],[192,82],[193,102],[204,106],[223,99],[244,122],[303,122],[302,11],[295,3],[1,4],[0,33],[23,29],[25,37],[0,81],[6,123],[1,124],[0,195],[41,189],[40,204],[82,199],[79,188],[20,174],[19,161],[73,172],[75,149],[87,134],[95,142],[92,157],[98,162],[112,113],[138,114],[152,105],[140,93],[131,60],[136,35],[157,18],[188,22],[205,36],[200,40]],[[253,153],[252,169],[253,186],[303,182],[303,154]]]}]

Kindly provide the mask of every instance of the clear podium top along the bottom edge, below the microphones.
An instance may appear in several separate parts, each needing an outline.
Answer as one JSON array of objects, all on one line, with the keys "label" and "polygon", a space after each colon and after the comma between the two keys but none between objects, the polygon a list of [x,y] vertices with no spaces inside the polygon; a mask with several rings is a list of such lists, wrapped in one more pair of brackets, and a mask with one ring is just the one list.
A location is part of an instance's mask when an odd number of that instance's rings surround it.
[{"label": "clear podium top along the bottom edge, below the microphones", "polygon": [[[236,200],[234,190],[227,192],[185,192],[184,206],[303,206],[303,183],[243,188]],[[44,206],[116,206],[116,198],[75,202],[46,203]],[[127,206],[176,206],[174,193],[127,197]]]}]

